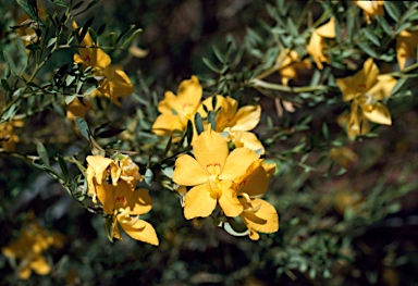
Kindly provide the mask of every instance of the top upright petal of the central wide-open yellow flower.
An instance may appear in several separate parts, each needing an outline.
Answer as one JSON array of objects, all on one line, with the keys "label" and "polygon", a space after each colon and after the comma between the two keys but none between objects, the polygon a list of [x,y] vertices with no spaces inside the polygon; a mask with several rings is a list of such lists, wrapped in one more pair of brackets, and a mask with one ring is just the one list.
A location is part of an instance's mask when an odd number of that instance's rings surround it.
[{"label": "top upright petal of the central wide-open yellow flower", "polygon": [[200,134],[193,144],[193,150],[202,170],[207,170],[209,165],[219,165],[222,170],[229,153],[225,139],[212,129]]}]

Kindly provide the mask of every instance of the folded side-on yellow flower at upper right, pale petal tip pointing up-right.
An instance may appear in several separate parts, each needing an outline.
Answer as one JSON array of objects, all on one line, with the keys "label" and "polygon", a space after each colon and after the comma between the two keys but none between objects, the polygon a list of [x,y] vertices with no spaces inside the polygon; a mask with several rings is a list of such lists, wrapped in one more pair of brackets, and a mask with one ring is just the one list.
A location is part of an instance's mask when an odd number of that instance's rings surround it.
[{"label": "folded side-on yellow flower at upper right, pale petal tip pointing up-right", "polygon": [[331,17],[330,21],[322,26],[316,28],[310,36],[307,52],[312,57],[319,70],[323,69],[322,62],[329,62],[327,55],[323,54],[325,48],[325,38],[335,38],[335,18]]}]

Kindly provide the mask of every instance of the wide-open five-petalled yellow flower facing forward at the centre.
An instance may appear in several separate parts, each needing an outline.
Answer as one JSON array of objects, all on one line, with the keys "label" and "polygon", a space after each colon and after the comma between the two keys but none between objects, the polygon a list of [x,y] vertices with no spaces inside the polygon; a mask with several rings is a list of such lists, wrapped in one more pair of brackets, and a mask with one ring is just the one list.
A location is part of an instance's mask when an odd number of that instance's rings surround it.
[{"label": "wide-open five-petalled yellow flower facing forward at the centre", "polygon": [[247,148],[236,148],[230,153],[225,139],[210,127],[194,141],[193,150],[195,158],[179,157],[173,173],[174,183],[193,186],[185,196],[185,217],[206,217],[217,202],[225,215],[241,214],[244,209],[231,185],[258,156]]}]

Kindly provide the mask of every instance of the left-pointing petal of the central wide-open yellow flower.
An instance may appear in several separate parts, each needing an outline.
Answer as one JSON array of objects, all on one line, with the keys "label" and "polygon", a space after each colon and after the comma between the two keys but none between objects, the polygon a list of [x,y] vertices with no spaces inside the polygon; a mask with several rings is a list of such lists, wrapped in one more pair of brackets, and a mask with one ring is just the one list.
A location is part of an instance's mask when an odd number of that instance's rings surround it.
[{"label": "left-pointing petal of the central wide-open yellow flower", "polygon": [[190,156],[183,154],[175,160],[173,182],[183,186],[196,186],[207,182],[209,173]]}]

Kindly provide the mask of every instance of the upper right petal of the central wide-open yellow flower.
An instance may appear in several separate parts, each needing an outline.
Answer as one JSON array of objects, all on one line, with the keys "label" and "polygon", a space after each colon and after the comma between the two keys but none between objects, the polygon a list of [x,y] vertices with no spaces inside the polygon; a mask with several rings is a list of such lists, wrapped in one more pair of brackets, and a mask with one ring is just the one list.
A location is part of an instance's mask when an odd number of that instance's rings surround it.
[{"label": "upper right petal of the central wide-open yellow flower", "polygon": [[244,175],[247,169],[259,158],[253,150],[247,148],[234,149],[226,159],[220,179],[234,181]]}]

